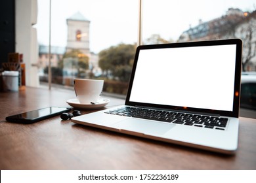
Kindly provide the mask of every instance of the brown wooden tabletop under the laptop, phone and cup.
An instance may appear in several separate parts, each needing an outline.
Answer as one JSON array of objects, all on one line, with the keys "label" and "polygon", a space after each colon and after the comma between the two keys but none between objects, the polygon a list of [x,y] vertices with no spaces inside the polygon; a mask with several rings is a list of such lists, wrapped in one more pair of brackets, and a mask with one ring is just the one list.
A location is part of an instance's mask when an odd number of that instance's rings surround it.
[{"label": "brown wooden tabletop under the laptop, phone and cup", "polygon": [[[29,88],[0,93],[0,169],[256,169],[256,120],[240,118],[234,156],[152,141],[62,121],[13,124],[5,117],[59,106],[75,97],[69,90]],[[111,98],[108,106],[124,103]],[[87,112],[83,110],[82,113]]]}]

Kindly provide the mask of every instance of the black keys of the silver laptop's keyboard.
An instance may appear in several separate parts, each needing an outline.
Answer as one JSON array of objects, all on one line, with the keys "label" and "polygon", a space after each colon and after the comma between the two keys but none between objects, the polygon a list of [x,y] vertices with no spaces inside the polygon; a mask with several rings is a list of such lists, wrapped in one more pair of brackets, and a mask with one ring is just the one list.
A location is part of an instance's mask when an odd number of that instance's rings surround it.
[{"label": "black keys of the silver laptop's keyboard", "polygon": [[122,107],[104,113],[219,130],[224,130],[228,123],[228,118],[137,107]]}]

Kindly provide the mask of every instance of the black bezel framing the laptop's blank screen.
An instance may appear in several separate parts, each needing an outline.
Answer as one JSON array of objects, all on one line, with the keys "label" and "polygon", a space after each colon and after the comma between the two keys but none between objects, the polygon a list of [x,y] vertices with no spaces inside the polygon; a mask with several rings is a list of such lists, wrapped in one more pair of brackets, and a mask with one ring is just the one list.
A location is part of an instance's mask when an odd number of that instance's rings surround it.
[{"label": "black bezel framing the laptop's blank screen", "polygon": [[[182,48],[182,47],[195,47],[195,46],[215,46],[215,45],[229,45],[236,44],[236,65],[235,65],[235,75],[234,75],[234,93],[233,93],[233,108],[232,111],[225,110],[210,110],[203,108],[192,108],[192,107],[182,107],[182,106],[172,106],[172,105],[156,105],[150,103],[140,103],[130,101],[131,90],[133,87],[133,80],[137,68],[139,52],[140,50],[146,49],[159,49],[159,48]],[[129,82],[129,88],[127,90],[127,97],[125,100],[125,105],[130,106],[140,106],[140,107],[150,107],[150,108],[161,108],[163,110],[177,110],[182,112],[198,112],[203,114],[218,114],[220,116],[230,116],[238,118],[239,107],[240,107],[240,80],[241,80],[241,68],[242,68],[242,41],[240,39],[224,39],[215,41],[195,41],[195,42],[177,42],[168,44],[150,44],[138,46],[135,54],[135,61],[133,63],[133,70],[131,73],[131,78]]]}]

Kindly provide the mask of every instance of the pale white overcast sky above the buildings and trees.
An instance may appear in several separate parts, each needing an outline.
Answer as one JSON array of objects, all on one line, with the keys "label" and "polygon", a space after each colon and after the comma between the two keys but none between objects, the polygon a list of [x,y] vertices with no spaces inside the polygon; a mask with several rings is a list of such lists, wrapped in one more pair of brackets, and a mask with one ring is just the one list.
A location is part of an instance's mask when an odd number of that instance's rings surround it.
[{"label": "pale white overcast sky above the buildings and trees", "polygon": [[[37,0],[37,39],[49,45],[49,1]],[[51,0],[51,45],[66,46],[66,19],[81,12],[90,23],[90,50],[138,39],[139,0]],[[226,14],[228,8],[256,10],[255,0],[143,0],[142,39],[153,34],[176,41],[183,31]]]}]

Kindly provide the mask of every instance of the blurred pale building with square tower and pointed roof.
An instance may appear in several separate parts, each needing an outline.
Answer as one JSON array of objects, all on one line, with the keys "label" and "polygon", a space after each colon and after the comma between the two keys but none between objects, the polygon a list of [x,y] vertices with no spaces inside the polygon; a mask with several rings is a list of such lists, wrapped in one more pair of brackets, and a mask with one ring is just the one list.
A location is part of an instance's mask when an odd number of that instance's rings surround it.
[{"label": "blurred pale building with square tower and pointed roof", "polygon": [[[85,70],[79,67],[79,59],[86,57],[89,59],[89,68],[85,71],[83,76],[88,77],[91,74],[94,76],[101,75],[101,69],[98,67],[98,55],[90,52],[89,46],[89,25],[90,21],[87,20],[83,14],[76,12],[67,22],[67,46],[51,46],[51,67],[61,68],[63,84],[66,84],[66,80],[69,78],[77,77],[77,71]],[[77,58],[64,58],[64,55],[78,50],[79,55]],[[60,63],[62,62],[62,63]],[[39,45],[39,75],[41,78],[45,78],[45,68],[49,65],[49,46]],[[78,68],[79,67],[79,68]],[[81,76],[81,75],[80,75]],[[45,79],[44,79],[45,80]],[[68,85],[70,85],[69,82]]]}]

